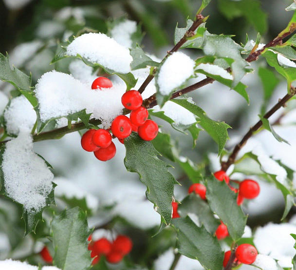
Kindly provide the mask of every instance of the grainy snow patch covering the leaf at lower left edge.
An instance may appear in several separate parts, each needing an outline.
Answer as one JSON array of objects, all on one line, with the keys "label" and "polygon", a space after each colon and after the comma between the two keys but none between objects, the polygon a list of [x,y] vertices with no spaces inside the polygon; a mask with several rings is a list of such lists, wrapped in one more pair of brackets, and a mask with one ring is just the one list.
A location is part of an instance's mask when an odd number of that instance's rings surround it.
[{"label": "grainy snow patch covering the leaf at lower left edge", "polygon": [[9,197],[28,212],[38,212],[46,206],[54,175],[45,161],[33,152],[30,134],[20,132],[17,138],[6,143],[1,168]]}]

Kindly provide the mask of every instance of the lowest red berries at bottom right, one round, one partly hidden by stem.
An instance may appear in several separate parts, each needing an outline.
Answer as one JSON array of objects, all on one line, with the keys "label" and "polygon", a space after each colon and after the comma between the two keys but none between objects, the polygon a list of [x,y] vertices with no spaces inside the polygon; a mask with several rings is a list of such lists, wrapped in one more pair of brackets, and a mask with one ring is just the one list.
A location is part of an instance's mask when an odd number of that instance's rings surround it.
[{"label": "lowest red berries at bottom right, one round, one partly hidden by stem", "polygon": [[[226,251],[224,254],[223,267],[226,267],[231,251]],[[256,261],[258,252],[256,248],[250,244],[241,244],[238,246],[235,251],[235,259],[233,267],[238,266],[239,264],[252,264]]]}]

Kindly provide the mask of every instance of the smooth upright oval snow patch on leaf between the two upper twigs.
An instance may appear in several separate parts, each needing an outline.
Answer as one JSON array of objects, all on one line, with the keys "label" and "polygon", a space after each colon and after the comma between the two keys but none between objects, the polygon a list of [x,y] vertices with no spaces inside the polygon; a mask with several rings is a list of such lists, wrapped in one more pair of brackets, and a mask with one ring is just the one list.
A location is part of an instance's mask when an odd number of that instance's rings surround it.
[{"label": "smooth upright oval snow patch on leaf between the two upper twigs", "polygon": [[161,66],[157,84],[162,95],[169,95],[194,74],[195,62],[184,53],[170,55]]}]

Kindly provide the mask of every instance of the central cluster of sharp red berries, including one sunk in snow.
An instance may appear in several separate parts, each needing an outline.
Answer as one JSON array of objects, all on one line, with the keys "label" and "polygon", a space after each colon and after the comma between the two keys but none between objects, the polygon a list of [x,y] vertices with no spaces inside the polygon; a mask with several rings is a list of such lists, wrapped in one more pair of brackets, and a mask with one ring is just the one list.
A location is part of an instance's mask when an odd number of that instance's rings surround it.
[{"label": "central cluster of sharp red berries, including one sunk in snow", "polygon": [[[98,77],[92,83],[92,89],[111,88],[112,82],[105,77]],[[117,116],[111,124],[111,128],[90,129],[81,138],[81,146],[85,151],[93,152],[101,161],[111,159],[116,153],[116,147],[112,142],[112,136],[117,137],[121,143],[132,131],[146,141],[153,140],[158,134],[158,125],[153,120],[148,120],[148,111],[142,107],[143,98],[136,90],[129,90],[121,97],[123,106],[131,110],[130,116]]]}]

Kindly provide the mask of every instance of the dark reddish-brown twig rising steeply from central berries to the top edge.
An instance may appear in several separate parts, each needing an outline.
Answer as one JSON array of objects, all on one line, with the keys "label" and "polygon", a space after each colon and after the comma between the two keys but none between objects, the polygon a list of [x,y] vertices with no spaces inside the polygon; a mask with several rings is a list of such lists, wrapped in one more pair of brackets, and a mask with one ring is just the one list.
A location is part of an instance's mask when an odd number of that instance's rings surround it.
[{"label": "dark reddish-brown twig rising steeply from central berries to the top edge", "polygon": [[[198,14],[195,17],[195,20],[193,22],[193,24],[191,25],[191,27],[186,31],[185,35],[183,36],[182,39],[179,40],[179,42],[170,50],[167,52],[165,58],[162,60],[164,61],[169,55],[171,55],[174,52],[177,52],[182,45],[184,45],[184,43],[187,41],[188,37],[192,37],[194,35],[194,31],[203,23],[203,15],[202,14]],[[151,82],[151,80],[154,78],[154,75],[148,75],[148,77],[145,79],[145,81],[142,83],[142,85],[139,88],[139,92],[142,94],[144,92],[144,90],[146,89],[147,85]]]}]

